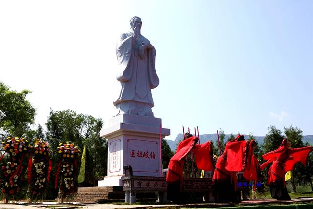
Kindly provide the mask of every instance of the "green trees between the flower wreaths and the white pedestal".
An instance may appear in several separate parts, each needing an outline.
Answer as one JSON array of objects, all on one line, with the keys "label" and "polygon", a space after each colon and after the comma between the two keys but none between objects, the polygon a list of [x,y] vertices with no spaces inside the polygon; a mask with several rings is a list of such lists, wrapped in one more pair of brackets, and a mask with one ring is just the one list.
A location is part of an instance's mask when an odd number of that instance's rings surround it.
[{"label": "green trees between the flower wreaths and the white pedestal", "polygon": [[[86,144],[86,172],[83,183],[86,186],[94,186],[107,173],[107,141],[100,137],[102,124],[101,119],[77,114],[73,110],[51,110],[46,123],[46,137],[51,150],[56,150],[58,144],[64,141],[74,142],[80,148]],[[53,168],[56,171],[59,159],[54,154],[52,160],[56,162]]]}]

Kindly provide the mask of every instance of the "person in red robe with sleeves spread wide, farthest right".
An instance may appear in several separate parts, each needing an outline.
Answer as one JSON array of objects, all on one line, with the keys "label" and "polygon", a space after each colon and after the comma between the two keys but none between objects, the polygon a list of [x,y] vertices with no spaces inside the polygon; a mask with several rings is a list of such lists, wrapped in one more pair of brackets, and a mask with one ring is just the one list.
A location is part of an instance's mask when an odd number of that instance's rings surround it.
[{"label": "person in red robe with sleeves spread wide, farthest right", "polygon": [[298,162],[306,165],[308,155],[312,151],[310,146],[291,149],[289,145],[290,142],[283,139],[278,149],[262,155],[267,162],[260,166],[261,170],[272,163],[268,170],[267,185],[271,196],[277,200],[291,200],[286,188],[285,174],[292,171]]}]

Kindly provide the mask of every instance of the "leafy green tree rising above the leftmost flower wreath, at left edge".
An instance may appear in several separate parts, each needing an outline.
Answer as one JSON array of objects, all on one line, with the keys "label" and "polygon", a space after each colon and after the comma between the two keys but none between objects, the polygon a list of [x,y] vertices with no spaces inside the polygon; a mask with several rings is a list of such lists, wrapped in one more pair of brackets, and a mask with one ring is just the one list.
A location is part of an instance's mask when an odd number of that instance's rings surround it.
[{"label": "leafy green tree rising above the leftmost flower wreath, at left edge", "polygon": [[0,82],[0,128],[10,135],[22,136],[30,130],[36,115],[26,100],[29,90],[16,92]]}]

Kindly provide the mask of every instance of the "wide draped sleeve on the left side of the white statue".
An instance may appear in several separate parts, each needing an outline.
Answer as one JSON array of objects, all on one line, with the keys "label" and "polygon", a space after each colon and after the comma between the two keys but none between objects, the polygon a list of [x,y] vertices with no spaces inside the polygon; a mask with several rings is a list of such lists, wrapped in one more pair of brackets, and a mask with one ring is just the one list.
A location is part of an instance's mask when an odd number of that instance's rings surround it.
[{"label": "wide draped sleeve on the left side of the white statue", "polygon": [[131,78],[132,68],[129,65],[133,54],[132,35],[127,33],[121,34],[116,46],[117,62],[119,64],[118,81],[125,82]]}]

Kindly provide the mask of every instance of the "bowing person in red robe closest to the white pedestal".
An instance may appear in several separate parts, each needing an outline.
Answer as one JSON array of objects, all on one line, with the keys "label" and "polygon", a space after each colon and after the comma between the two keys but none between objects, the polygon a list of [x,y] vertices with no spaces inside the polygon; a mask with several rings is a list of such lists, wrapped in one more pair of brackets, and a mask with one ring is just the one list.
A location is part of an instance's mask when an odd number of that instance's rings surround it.
[{"label": "bowing person in red robe closest to the white pedestal", "polygon": [[181,141],[176,149],[175,155],[170,159],[167,181],[167,199],[176,203],[186,201],[182,195],[183,167],[185,157],[193,152],[198,169],[210,171],[214,169],[212,143],[208,141],[197,144],[198,138],[186,133],[184,140]]}]

